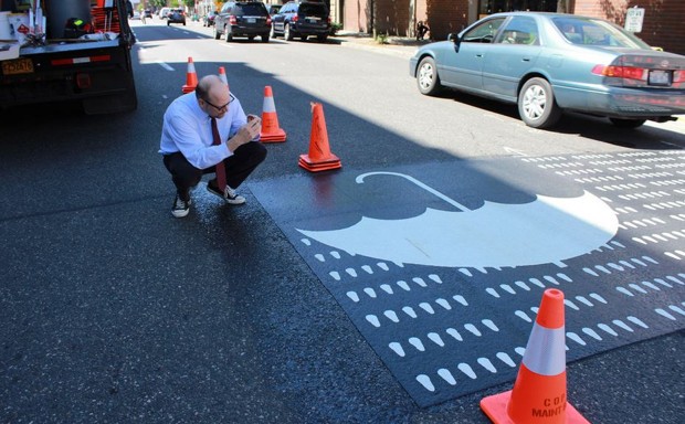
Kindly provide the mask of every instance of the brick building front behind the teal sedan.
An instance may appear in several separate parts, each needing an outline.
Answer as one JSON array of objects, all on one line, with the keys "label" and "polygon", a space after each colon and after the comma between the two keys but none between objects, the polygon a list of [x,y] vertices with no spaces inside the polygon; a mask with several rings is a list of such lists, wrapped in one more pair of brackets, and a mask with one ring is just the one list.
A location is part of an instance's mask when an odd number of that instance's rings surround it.
[{"label": "brick building front behind the teal sedan", "polygon": [[645,9],[642,32],[650,45],[685,54],[685,0],[327,0],[331,19],[346,31],[414,36],[418,21],[433,40],[444,40],[477,19],[510,10],[562,11],[603,18],[620,25],[629,8]]}]

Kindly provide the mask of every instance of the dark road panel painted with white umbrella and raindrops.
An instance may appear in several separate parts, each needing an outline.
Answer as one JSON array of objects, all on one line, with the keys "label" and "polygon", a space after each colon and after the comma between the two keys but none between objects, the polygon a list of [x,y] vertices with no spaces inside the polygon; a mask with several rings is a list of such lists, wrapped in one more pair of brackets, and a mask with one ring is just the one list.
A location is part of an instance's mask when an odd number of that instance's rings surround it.
[{"label": "dark road panel painted with white umbrella and raindrops", "polygon": [[[684,159],[683,151],[518,157],[383,169],[361,182],[369,170],[348,168],[250,187],[402,386],[428,406],[515,379],[545,288],[566,295],[568,361],[685,328]],[[562,218],[556,229],[530,212],[541,199],[551,199],[542,211]],[[487,214],[494,205],[498,213]],[[454,214],[452,227],[414,220],[426,211]],[[470,213],[484,219],[464,220]],[[375,235],[359,244],[368,234],[345,229],[362,221]],[[443,252],[454,227],[456,248]],[[535,234],[540,229],[548,239]],[[527,261],[545,250],[549,262]],[[422,263],[417,252],[461,265]],[[487,266],[498,262],[508,265]]]}]

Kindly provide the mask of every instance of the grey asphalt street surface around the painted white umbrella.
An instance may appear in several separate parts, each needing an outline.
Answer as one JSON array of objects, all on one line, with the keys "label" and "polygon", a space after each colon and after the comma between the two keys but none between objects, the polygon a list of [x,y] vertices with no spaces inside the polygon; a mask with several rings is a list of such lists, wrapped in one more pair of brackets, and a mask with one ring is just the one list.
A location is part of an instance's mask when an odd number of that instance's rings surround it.
[{"label": "grey asphalt street surface around the painted white umbrella", "polygon": [[[328,263],[318,264],[319,252],[310,252],[317,242],[303,244],[294,229],[347,222],[358,212],[352,206],[375,202],[376,218],[402,219],[425,195],[390,184],[386,191],[352,191],[365,172],[417,176],[473,210],[484,198],[525,202],[531,187],[565,197],[587,188],[604,201],[633,204],[635,199],[621,198],[633,191],[581,181],[593,176],[563,174],[573,166],[554,167],[581,162],[593,169],[588,161],[596,155],[653,153],[655,163],[672,165],[663,170],[675,174],[671,180],[683,179],[682,123],[619,131],[600,119],[568,116],[554,131],[538,131],[507,106],[453,94],[420,96],[408,76],[407,51],[345,49],[346,41],[335,40],[225,43],[199,24],[152,22],[135,28],[137,112],[87,117],[77,105],[60,105],[0,114],[2,422],[487,423],[479,400],[509,390],[513,380],[422,402],[346,304],[369,292],[331,286],[336,274]],[[266,161],[240,190],[245,205],[225,206],[201,184],[191,213],[176,220],[169,213],[173,189],[157,149],[161,116],[180,94],[189,56],[199,75],[224,66],[246,112],[259,113],[263,87],[273,86],[288,140],[267,146]],[[342,162],[338,171],[312,174],[297,166],[309,147],[313,100],[324,104],[330,149]],[[650,176],[642,183],[663,180]],[[671,194],[667,216],[682,216],[683,183],[673,184],[653,191]],[[388,208],[389,201],[397,206]],[[629,233],[633,229],[620,231],[642,237]],[[684,273],[685,256],[677,259],[683,239],[674,234],[650,251],[675,258],[660,259],[649,272],[635,266],[630,278],[613,273],[615,279],[591,280],[593,290],[611,284],[635,292],[629,282]],[[598,253],[586,256],[592,255]],[[345,264],[357,266],[358,258],[341,254]],[[565,265],[586,273],[583,261]],[[397,264],[388,267],[426,269]],[[338,274],[342,282],[351,275],[346,267]],[[444,282],[456,275],[506,294],[506,282],[493,283],[475,267],[438,269]],[[493,275],[489,266],[484,269]],[[507,272],[499,275],[518,278]],[[683,289],[672,286],[652,299],[682,305]],[[526,303],[535,304],[539,293],[531,290]],[[474,309],[486,311],[494,299],[487,296],[476,296],[484,303]],[[647,340],[599,349],[568,364],[568,399],[586,418],[682,422],[684,317],[675,309],[672,316]],[[529,324],[514,325],[526,338]],[[569,347],[571,356],[577,348]],[[462,353],[471,354],[471,347]]]}]

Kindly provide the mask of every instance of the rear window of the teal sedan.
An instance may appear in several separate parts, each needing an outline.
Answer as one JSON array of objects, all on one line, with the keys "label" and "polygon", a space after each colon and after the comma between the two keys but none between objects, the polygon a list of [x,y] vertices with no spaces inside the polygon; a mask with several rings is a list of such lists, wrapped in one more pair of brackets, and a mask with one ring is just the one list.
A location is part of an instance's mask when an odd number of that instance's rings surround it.
[{"label": "rear window of the teal sedan", "polygon": [[650,49],[632,33],[599,19],[555,18],[555,25],[573,44],[609,45],[628,49]]}]

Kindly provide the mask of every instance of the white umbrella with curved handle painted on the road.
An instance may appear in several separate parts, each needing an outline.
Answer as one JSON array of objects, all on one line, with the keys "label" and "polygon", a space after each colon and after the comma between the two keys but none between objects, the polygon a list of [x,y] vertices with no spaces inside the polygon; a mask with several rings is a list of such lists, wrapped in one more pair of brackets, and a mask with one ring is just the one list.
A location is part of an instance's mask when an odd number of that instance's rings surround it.
[{"label": "white umbrella with curved handle painted on the road", "polygon": [[419,216],[377,220],[362,216],[355,225],[331,231],[299,230],[320,243],[350,255],[445,267],[516,267],[555,263],[587,254],[616,234],[615,213],[596,195],[537,195],[523,204],[486,201],[468,210],[413,177],[397,172],[370,176],[404,178],[453,205],[456,211],[426,208]]}]

